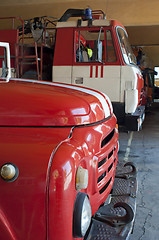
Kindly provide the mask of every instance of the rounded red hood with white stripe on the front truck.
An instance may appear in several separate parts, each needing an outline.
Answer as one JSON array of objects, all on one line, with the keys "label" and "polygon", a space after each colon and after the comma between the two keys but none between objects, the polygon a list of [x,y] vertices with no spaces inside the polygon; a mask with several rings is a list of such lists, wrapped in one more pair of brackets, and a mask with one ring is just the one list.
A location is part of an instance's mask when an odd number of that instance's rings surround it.
[{"label": "rounded red hood with white stripe on the front truck", "polygon": [[107,96],[72,85],[11,79],[0,84],[1,126],[91,124],[112,114]]}]

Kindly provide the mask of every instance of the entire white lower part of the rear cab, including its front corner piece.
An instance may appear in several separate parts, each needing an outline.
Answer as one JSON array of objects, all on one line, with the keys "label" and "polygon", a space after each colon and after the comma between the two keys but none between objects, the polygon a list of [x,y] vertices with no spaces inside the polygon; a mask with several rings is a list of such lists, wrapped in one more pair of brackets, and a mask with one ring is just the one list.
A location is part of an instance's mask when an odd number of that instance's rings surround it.
[{"label": "entire white lower part of the rear cab, including its front corner piece", "polygon": [[[125,102],[125,113],[133,113],[138,105],[137,76],[141,71],[136,66],[75,65],[54,66],[53,79],[107,94],[112,102]],[[112,87],[114,86],[114,87]]]}]

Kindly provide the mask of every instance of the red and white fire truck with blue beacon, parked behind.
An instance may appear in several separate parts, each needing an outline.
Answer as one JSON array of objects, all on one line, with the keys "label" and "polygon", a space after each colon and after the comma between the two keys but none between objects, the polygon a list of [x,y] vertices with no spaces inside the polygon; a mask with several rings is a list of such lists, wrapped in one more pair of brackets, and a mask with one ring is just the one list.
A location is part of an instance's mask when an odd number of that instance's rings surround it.
[{"label": "red and white fire truck with blue beacon, parked behind", "polygon": [[[8,18],[1,18],[1,26],[4,20]],[[68,9],[60,19],[21,21],[17,29],[0,30],[0,41],[10,43],[17,77],[56,79],[102,91],[110,97],[118,123],[141,129],[143,77],[119,22],[90,9]]]}]

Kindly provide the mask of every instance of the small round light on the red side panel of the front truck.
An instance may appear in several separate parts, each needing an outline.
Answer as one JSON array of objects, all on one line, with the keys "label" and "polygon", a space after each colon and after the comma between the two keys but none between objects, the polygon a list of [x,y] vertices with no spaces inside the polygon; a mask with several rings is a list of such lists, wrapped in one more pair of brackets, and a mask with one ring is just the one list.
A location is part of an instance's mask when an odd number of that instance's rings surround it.
[{"label": "small round light on the red side panel of the front truck", "polygon": [[18,168],[13,163],[6,163],[0,169],[1,178],[8,182],[13,182],[18,174]]}]

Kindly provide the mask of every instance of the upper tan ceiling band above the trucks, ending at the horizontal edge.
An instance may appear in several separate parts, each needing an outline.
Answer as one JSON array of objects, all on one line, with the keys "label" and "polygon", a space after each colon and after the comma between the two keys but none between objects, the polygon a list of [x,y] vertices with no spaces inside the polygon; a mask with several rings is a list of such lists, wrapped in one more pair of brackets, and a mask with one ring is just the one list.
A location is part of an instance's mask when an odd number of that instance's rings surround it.
[{"label": "upper tan ceiling band above the trucks, ending at the horizontal edge", "polygon": [[121,21],[124,25],[159,24],[158,0],[0,0],[0,16],[49,15],[60,17],[68,8],[102,9],[108,18]]}]

